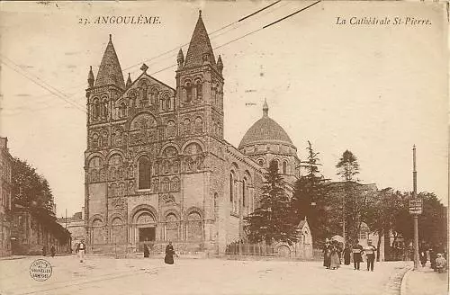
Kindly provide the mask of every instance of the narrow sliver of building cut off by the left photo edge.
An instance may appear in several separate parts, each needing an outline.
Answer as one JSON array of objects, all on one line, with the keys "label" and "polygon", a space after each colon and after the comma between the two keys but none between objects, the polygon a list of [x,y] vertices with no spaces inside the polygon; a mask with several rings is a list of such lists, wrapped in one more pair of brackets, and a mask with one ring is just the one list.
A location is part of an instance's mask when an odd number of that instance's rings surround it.
[{"label": "narrow sliver of building cut off by the left photo edge", "polygon": [[0,138],[0,257],[11,255],[11,192],[13,156],[8,150],[8,139]]}]

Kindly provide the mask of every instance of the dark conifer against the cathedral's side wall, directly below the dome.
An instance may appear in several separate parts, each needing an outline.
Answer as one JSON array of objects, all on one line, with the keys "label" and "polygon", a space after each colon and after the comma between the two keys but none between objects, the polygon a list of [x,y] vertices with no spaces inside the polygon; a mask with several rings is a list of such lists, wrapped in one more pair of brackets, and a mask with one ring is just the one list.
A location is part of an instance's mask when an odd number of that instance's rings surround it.
[{"label": "dark conifer against the cathedral's side wall, directly below the dome", "polygon": [[284,180],[278,173],[278,165],[270,163],[258,207],[246,220],[246,232],[251,242],[285,242],[292,245],[298,240],[298,223],[290,210],[290,200]]}]

